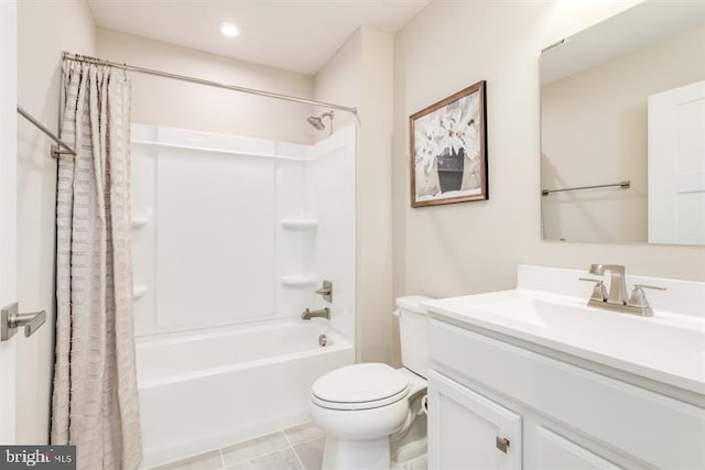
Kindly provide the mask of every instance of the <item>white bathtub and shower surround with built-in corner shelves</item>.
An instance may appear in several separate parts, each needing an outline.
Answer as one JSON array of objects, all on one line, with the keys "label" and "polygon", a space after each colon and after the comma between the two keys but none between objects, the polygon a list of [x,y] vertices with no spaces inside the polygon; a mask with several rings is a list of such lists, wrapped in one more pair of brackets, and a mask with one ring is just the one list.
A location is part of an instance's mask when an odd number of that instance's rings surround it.
[{"label": "white bathtub and shower surround with built-in corner shelves", "polygon": [[[302,423],[313,381],[354,362],[355,131],[302,145],[132,125],[144,466]],[[304,324],[324,278],[330,321]]]}]

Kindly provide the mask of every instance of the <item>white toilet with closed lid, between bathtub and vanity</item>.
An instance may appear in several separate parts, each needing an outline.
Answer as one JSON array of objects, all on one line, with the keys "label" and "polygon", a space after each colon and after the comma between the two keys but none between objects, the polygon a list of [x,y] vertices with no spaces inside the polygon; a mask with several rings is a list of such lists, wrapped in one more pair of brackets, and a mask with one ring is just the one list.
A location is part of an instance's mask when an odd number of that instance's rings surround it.
[{"label": "white toilet with closed lid, between bathtub and vanity", "polygon": [[[429,370],[429,320],[421,307],[425,300],[430,298],[397,299],[394,315],[399,316],[402,369],[383,363],[352,364],[335,369],[314,382],[310,412],[326,435],[323,470],[397,467],[391,458],[391,442],[406,435],[423,413],[420,398],[425,395]],[[411,403],[415,406],[410,406]]]}]

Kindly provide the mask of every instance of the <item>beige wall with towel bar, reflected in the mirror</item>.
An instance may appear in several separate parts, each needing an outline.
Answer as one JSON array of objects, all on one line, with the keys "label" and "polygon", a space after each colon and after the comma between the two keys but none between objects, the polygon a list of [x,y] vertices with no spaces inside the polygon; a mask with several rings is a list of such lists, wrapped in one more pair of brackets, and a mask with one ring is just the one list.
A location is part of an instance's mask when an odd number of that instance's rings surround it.
[{"label": "beige wall with towel bar, reflected in the mirror", "polygon": [[543,86],[543,187],[631,182],[543,197],[547,240],[647,241],[647,98],[705,77],[704,50],[698,28]]}]

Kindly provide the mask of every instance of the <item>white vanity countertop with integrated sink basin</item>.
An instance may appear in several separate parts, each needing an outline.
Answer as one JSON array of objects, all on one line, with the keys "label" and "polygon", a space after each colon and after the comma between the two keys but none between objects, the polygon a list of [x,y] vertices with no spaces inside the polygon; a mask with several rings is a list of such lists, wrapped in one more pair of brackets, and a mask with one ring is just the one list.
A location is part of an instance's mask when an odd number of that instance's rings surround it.
[{"label": "white vanity countertop with integrated sink basin", "polygon": [[587,299],[531,289],[425,304],[432,317],[489,329],[705,394],[705,321],[657,311],[639,317]]}]

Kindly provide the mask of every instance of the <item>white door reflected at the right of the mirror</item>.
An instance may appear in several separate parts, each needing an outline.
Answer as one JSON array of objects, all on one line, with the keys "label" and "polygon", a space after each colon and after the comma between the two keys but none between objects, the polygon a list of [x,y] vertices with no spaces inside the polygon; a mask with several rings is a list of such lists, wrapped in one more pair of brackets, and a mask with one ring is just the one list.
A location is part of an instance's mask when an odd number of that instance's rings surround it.
[{"label": "white door reflected at the right of the mirror", "polygon": [[649,242],[705,244],[705,81],[649,97]]}]

